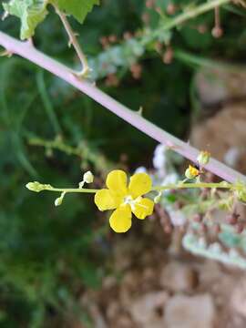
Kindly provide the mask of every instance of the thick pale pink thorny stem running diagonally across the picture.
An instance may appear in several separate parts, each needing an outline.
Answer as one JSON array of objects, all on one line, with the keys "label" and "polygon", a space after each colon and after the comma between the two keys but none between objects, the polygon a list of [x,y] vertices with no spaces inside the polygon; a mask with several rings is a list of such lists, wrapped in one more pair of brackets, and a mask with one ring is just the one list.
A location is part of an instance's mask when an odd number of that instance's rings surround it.
[{"label": "thick pale pink thorny stem running diagonally across the picture", "polygon": [[[50,73],[56,75],[56,77],[62,78],[70,85],[87,94],[88,97],[96,100],[97,103],[101,104],[103,107],[108,108],[119,118],[125,119],[133,127],[138,128],[149,137],[154,138],[163,145],[178,152],[186,159],[196,162],[200,152],[198,149],[191,147],[188,143],[179,138],[173,137],[168,132],[149,122],[147,119],[142,118],[138,113],[121,105],[118,101],[109,97],[86,80],[78,79],[71,73],[71,70],[68,67],[36,50],[34,46],[30,45],[30,43],[16,40],[15,38],[0,32],[0,45],[4,46],[9,53],[22,56],[35,63],[37,66],[45,68]],[[205,166],[205,169],[210,170],[221,179],[225,179],[232,183],[238,180],[246,182],[246,177],[244,175],[227,167],[216,159],[210,159],[210,163]]]}]

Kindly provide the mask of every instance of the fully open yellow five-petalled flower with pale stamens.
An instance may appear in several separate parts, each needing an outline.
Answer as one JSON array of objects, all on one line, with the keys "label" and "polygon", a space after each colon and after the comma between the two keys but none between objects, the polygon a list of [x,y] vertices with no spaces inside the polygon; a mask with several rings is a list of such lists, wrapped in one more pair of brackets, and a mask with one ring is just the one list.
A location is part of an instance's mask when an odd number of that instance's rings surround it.
[{"label": "fully open yellow five-petalled flower with pale stamens", "polygon": [[136,173],[127,184],[127,174],[121,169],[115,169],[108,173],[106,185],[108,189],[97,191],[95,203],[99,210],[114,210],[109,218],[110,227],[114,231],[128,231],[132,213],[140,220],[152,214],[154,202],[142,198],[152,187],[148,174]]}]

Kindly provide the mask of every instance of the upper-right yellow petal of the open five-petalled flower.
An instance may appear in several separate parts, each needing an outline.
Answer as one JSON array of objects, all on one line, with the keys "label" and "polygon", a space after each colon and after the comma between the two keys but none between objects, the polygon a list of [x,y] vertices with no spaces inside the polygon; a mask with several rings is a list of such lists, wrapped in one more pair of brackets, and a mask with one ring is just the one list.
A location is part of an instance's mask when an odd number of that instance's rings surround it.
[{"label": "upper-right yellow petal of the open five-petalled flower", "polygon": [[148,193],[151,190],[152,181],[147,173],[136,173],[130,178],[129,193],[133,199]]}]

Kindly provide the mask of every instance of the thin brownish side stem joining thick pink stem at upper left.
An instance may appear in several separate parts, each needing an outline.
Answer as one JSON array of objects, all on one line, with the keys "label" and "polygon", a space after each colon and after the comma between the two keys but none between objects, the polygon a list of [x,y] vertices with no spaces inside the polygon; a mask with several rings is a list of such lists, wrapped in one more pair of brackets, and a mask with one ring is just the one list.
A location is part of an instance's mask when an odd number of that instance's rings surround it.
[{"label": "thin brownish side stem joining thick pink stem at upper left", "polygon": [[64,28],[66,29],[67,36],[69,37],[69,44],[73,45],[77,56],[81,62],[82,70],[81,72],[75,72],[78,77],[87,77],[87,73],[89,71],[88,63],[87,63],[87,56],[83,53],[81,46],[79,46],[77,42],[76,33],[73,31],[72,27],[70,26],[67,16],[63,14],[56,6],[56,14],[60,17]]}]

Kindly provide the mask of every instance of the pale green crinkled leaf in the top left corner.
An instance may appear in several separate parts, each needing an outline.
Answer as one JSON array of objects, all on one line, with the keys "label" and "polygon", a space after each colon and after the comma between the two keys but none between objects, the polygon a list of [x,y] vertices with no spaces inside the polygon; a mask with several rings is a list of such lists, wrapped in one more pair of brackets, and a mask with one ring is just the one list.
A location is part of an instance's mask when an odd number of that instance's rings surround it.
[{"label": "pale green crinkled leaf in the top left corner", "polygon": [[46,5],[46,0],[11,0],[3,4],[8,14],[20,18],[21,39],[26,39],[35,34],[36,26],[41,23],[47,15]]}]

